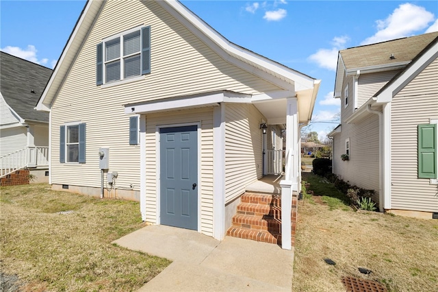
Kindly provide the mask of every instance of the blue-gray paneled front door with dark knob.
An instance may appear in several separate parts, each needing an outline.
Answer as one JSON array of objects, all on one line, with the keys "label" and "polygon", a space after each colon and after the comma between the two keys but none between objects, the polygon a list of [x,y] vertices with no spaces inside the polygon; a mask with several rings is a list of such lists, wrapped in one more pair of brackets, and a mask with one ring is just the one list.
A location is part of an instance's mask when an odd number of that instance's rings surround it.
[{"label": "blue-gray paneled front door with dark knob", "polygon": [[197,126],[159,130],[161,224],[198,230]]}]

